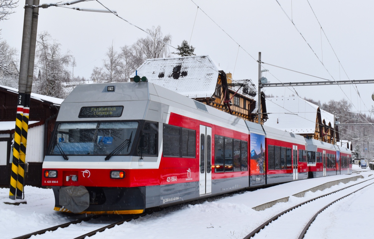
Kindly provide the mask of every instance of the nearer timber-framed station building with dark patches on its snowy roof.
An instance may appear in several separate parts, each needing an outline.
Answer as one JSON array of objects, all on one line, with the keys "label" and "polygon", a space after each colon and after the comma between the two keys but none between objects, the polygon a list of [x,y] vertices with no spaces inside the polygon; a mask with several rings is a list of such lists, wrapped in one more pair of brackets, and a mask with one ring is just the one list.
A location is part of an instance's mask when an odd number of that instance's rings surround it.
[{"label": "nearer timber-framed station building with dark patches on its snowy roof", "polygon": [[[147,59],[130,76],[146,76],[160,85],[216,109],[249,121],[257,121],[257,92],[251,80],[232,79],[209,56]],[[266,109],[263,103],[263,109]],[[263,119],[267,115],[262,114]],[[262,119],[262,120],[263,120]]]}]

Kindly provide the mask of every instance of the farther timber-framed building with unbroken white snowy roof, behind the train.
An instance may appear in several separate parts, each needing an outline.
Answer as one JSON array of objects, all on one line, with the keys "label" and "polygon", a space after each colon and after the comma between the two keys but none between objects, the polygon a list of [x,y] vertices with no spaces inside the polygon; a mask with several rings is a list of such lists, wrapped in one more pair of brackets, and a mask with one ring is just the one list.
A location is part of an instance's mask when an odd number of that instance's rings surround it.
[{"label": "farther timber-framed building with unbroken white snowy roof, behind the train", "polygon": [[319,106],[292,96],[266,98],[266,107],[269,119],[265,125],[333,144],[334,115]]}]

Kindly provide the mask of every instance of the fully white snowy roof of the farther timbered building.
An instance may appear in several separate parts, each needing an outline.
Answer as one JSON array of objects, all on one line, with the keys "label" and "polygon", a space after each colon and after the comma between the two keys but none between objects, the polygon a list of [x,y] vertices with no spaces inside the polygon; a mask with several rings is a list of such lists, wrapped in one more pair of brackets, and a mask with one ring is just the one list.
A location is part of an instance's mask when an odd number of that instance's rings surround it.
[{"label": "fully white snowy roof of the farther timbered building", "polygon": [[[317,109],[317,105],[296,96],[266,98],[269,119],[264,124],[291,133],[314,133]],[[334,125],[334,115],[327,111],[321,110],[321,120]]]}]

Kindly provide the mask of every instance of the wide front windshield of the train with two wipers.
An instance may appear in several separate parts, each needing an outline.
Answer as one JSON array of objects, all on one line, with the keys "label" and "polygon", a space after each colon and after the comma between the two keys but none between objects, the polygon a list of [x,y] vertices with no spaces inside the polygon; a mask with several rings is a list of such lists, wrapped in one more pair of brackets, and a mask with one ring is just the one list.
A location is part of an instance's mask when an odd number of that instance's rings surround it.
[{"label": "wide front windshield of the train with two wipers", "polygon": [[137,129],[138,122],[59,123],[50,154],[127,155]]}]

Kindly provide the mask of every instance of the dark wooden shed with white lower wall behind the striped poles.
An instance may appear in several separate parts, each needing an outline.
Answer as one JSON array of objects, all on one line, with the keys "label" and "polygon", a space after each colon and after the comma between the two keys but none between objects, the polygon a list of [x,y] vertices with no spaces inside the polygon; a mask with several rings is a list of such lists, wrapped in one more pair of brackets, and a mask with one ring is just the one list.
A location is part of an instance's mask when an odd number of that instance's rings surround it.
[{"label": "dark wooden shed with white lower wall behind the striped poles", "polygon": [[[9,187],[18,89],[0,86],[0,186]],[[41,186],[42,164],[62,99],[31,94],[25,185]]]}]

